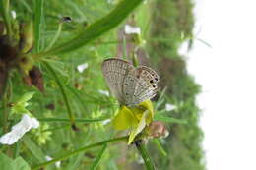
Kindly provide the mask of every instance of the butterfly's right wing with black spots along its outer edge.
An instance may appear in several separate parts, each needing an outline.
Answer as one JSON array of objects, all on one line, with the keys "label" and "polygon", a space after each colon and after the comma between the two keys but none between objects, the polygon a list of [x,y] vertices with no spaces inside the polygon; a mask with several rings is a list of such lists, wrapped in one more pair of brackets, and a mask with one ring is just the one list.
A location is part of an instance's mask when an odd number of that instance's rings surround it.
[{"label": "butterfly's right wing with black spots along its outer edge", "polygon": [[146,66],[129,71],[123,84],[125,104],[133,106],[153,98],[157,94],[159,80],[159,75]]}]

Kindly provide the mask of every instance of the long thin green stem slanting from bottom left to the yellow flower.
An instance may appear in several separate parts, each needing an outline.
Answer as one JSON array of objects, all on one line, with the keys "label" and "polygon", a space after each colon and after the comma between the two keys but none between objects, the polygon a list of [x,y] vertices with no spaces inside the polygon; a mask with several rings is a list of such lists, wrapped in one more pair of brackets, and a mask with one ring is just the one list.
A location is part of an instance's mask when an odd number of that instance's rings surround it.
[{"label": "long thin green stem slanting from bottom left to the yellow flower", "polygon": [[77,150],[74,150],[74,151],[71,151],[69,152],[68,154],[64,155],[64,156],[61,156],[61,157],[58,157],[58,158],[55,158],[55,159],[52,159],[50,161],[47,161],[47,162],[44,162],[40,165],[37,165],[35,167],[32,168],[32,170],[35,170],[35,169],[40,169],[42,167],[45,167],[47,165],[50,165],[50,164],[53,164],[55,162],[58,162],[58,161],[61,161],[61,160],[64,160],[66,158],[69,158],[71,156],[74,156],[78,153],[81,153],[81,152],[84,152],[90,148],[94,148],[94,147],[98,147],[98,146],[101,146],[101,145],[104,145],[106,143],[110,143],[110,142],[121,142],[121,141],[127,141],[128,139],[128,136],[125,136],[125,137],[119,137],[119,138],[116,138],[116,139],[111,139],[111,140],[106,140],[106,141],[103,141],[103,142],[96,142],[94,144],[91,144],[91,145],[87,145],[85,147],[82,147],[82,148],[79,148]]}]

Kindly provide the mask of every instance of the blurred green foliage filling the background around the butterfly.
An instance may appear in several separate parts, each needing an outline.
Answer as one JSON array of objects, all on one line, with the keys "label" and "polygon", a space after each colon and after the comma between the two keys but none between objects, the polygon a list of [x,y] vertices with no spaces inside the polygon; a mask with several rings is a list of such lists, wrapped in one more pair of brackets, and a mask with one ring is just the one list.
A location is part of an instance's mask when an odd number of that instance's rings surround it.
[{"label": "blurred green foliage filling the background around the butterfly", "polygon": [[[38,85],[26,85],[25,75],[21,74],[18,68],[9,73],[6,91],[8,98],[3,102],[4,105],[1,104],[0,113],[10,112],[12,103],[21,100],[24,94],[33,92],[30,105],[26,109],[40,121],[41,128],[26,134],[14,145],[0,145],[1,150],[12,158],[17,159],[18,155],[23,157],[34,167],[45,162],[46,157],[58,158],[82,146],[123,135],[122,132],[114,131],[108,122],[119,106],[112,96],[102,93],[102,90],[108,88],[100,66],[104,59],[116,56],[117,46],[120,45],[118,32],[132,18],[142,29],[142,37],[147,41],[143,50],[149,54],[152,66],[160,73],[160,85],[162,89],[166,87],[165,93],[163,90],[160,92],[162,97],[159,95],[159,98],[156,98],[156,114],[187,122],[176,124],[177,122],[173,121],[168,124],[168,138],[149,141],[148,148],[152,153],[153,162],[161,170],[204,169],[200,145],[203,135],[198,127],[200,109],[195,101],[200,86],[187,73],[185,61],[178,54],[180,45],[193,34],[191,0],[151,0],[140,5],[140,1],[136,0],[10,2],[10,10],[15,11],[17,16],[12,20],[13,28],[17,27],[18,21],[25,24],[31,21],[34,23],[35,43],[28,56],[33,58],[34,66],[42,75],[44,90],[38,88]],[[120,2],[119,5],[117,2]],[[132,13],[136,6],[138,8]],[[122,22],[128,14],[128,20]],[[72,21],[63,23],[62,18],[67,16]],[[100,33],[94,34],[94,31]],[[82,40],[79,39],[80,35]],[[51,48],[49,44],[54,38],[57,40]],[[75,50],[74,46],[80,48]],[[53,52],[47,53],[47,48]],[[58,54],[66,50],[69,53]],[[47,55],[43,55],[45,51]],[[77,66],[84,63],[88,64],[88,68],[82,73],[78,72]],[[60,90],[58,80],[64,90]],[[63,99],[65,95],[67,100]],[[176,105],[177,109],[166,111],[166,103]],[[69,112],[77,120],[73,128],[69,122]],[[3,126],[8,125],[10,129],[19,119],[12,116],[8,122],[3,123],[3,115],[1,134],[5,131]],[[66,121],[63,121],[64,119]],[[133,145],[127,146],[125,142],[117,142],[104,144],[102,147],[86,150],[62,160],[61,169],[142,169],[141,160]],[[51,164],[45,169],[57,168]]]}]

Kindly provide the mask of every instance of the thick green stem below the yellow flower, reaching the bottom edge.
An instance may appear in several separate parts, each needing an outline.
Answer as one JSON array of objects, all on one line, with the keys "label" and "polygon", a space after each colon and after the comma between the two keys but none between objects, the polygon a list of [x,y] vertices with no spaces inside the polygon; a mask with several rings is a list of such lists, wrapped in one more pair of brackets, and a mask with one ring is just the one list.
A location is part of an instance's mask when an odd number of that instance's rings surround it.
[{"label": "thick green stem below the yellow flower, reaching the bottom edge", "polygon": [[144,160],[145,166],[147,170],[155,170],[155,166],[153,164],[153,161],[149,155],[148,150],[146,149],[146,145],[142,142],[135,142],[137,149],[139,150],[140,154],[142,155],[142,158]]}]

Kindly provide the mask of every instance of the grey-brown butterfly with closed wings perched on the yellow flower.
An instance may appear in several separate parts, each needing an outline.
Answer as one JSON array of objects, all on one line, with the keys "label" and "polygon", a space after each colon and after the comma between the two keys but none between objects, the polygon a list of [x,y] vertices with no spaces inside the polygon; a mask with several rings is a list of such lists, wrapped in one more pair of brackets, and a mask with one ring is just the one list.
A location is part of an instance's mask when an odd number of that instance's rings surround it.
[{"label": "grey-brown butterfly with closed wings perched on the yellow flower", "polygon": [[157,94],[160,77],[149,67],[134,67],[128,61],[109,58],[102,63],[102,73],[121,105],[133,107]]}]

